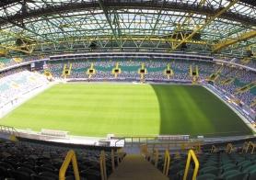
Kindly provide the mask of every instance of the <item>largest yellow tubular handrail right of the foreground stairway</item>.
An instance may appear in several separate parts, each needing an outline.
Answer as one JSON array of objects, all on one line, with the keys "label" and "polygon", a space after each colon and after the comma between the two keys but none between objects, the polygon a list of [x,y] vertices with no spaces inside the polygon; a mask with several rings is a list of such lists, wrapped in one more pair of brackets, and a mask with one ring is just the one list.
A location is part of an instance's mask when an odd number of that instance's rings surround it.
[{"label": "largest yellow tubular handrail right of the foreground stairway", "polygon": [[188,153],[188,159],[187,159],[187,163],[186,163],[186,168],[185,168],[185,173],[184,173],[184,176],[183,176],[183,180],[187,180],[187,176],[188,176],[188,173],[189,173],[189,168],[190,168],[190,165],[191,165],[191,160],[193,160],[193,162],[195,164],[193,174],[192,174],[192,180],[196,180],[196,175],[197,175],[198,169],[199,169],[199,162],[198,162],[198,159],[197,159],[195,153],[192,150],[190,150],[189,153]]}]

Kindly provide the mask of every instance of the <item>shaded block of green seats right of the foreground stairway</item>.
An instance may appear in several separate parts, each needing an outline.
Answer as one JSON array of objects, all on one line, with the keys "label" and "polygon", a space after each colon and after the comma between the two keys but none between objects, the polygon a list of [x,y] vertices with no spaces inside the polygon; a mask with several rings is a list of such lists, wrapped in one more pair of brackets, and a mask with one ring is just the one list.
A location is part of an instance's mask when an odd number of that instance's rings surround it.
[{"label": "shaded block of green seats right of the foreground stairway", "polygon": [[[210,145],[203,146],[202,151],[197,152],[195,155],[199,163],[196,179],[255,179],[256,156],[253,148],[255,147],[255,142],[250,141],[250,143],[252,144],[251,148],[247,141],[243,143],[240,141],[236,145],[231,143],[213,144],[211,145],[212,149]],[[167,173],[169,179],[183,179],[184,170],[187,167],[187,159],[187,154],[182,151],[170,154],[169,170]],[[163,171],[166,165],[166,154],[155,149],[151,152],[148,160],[159,170]],[[194,170],[195,163],[192,163],[190,168],[188,168],[188,179],[192,179]]]}]

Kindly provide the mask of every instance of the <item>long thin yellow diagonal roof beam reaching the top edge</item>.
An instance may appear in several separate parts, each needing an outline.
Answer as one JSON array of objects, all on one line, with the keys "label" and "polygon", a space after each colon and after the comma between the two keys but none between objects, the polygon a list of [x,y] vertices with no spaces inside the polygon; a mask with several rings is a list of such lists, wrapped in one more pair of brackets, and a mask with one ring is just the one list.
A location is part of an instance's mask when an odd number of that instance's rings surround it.
[{"label": "long thin yellow diagonal roof beam reaching the top edge", "polygon": [[182,39],[180,41],[180,43],[178,43],[177,45],[175,45],[174,47],[172,47],[172,51],[176,50],[178,47],[180,47],[180,45],[182,43],[184,43],[186,40],[188,39],[192,39],[192,37],[199,32],[200,30],[202,30],[203,28],[205,28],[206,26],[208,26],[209,24],[211,24],[211,22],[213,22],[215,20],[215,18],[220,17],[223,13],[225,13],[231,6],[234,6],[236,3],[238,3],[239,0],[233,0],[232,2],[230,2],[226,7],[222,8],[220,11],[218,11],[213,17],[210,17],[208,20],[205,21],[204,25],[199,26],[197,28],[195,28],[192,33],[187,36],[185,39]]}]

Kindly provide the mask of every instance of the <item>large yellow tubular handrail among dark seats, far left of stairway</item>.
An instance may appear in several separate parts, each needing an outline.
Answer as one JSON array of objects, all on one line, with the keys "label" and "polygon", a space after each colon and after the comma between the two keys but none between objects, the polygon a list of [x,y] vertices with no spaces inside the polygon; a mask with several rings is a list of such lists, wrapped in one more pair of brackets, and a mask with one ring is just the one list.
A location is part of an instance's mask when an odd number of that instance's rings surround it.
[{"label": "large yellow tubular handrail among dark seats, far left of stairway", "polygon": [[76,153],[73,150],[70,150],[69,152],[67,152],[67,154],[64,158],[64,163],[62,164],[62,167],[59,172],[59,180],[65,179],[65,172],[66,172],[66,169],[71,161],[72,161],[72,165],[73,165],[73,169],[74,169],[75,179],[80,180],[77,161],[76,161]]}]

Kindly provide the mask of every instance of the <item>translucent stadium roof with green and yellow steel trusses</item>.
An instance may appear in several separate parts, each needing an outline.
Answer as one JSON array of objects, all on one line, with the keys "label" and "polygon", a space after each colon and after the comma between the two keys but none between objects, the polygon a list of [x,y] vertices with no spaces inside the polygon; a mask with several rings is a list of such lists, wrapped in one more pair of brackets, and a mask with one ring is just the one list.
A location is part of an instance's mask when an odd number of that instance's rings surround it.
[{"label": "translucent stadium roof with green and yellow steel trusses", "polygon": [[255,0],[2,0],[0,49],[256,52]]}]

